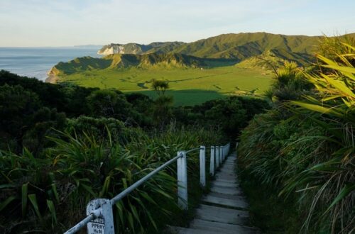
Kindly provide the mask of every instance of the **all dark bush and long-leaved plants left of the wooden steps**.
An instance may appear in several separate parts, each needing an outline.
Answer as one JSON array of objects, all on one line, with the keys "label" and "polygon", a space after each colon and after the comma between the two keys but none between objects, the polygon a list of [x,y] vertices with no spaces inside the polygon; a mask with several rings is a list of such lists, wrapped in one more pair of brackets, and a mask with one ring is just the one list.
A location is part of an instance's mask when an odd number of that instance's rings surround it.
[{"label": "all dark bush and long-leaved plants left of the wooden steps", "polygon": [[[84,217],[89,200],[111,198],[178,150],[234,140],[268,108],[260,99],[229,97],[174,109],[169,96],[153,101],[4,71],[0,84],[1,233],[62,233]],[[189,156],[189,203],[195,204],[203,190],[197,189],[199,158]],[[116,230],[154,233],[184,220],[175,167],[116,204]]]}]

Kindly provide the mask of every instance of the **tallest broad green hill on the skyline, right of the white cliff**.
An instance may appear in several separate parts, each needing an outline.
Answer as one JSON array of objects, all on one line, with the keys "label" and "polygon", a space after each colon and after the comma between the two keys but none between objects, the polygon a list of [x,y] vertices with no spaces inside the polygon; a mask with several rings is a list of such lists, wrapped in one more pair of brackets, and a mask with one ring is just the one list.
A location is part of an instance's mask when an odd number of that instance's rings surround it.
[{"label": "tallest broad green hill on the skyline, right of the white cliff", "polygon": [[280,35],[271,33],[230,33],[181,45],[173,52],[197,57],[245,60],[268,50],[311,54],[320,36]]}]

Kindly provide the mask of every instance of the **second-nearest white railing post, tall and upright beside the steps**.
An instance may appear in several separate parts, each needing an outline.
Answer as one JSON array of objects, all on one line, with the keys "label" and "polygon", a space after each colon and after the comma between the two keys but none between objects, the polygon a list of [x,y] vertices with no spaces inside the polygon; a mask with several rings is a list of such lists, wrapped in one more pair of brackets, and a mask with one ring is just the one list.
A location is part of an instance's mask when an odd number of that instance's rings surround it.
[{"label": "second-nearest white railing post, tall and upright beside the steps", "polygon": [[187,164],[186,152],[179,151],[178,155],[178,204],[180,208],[187,210]]}]

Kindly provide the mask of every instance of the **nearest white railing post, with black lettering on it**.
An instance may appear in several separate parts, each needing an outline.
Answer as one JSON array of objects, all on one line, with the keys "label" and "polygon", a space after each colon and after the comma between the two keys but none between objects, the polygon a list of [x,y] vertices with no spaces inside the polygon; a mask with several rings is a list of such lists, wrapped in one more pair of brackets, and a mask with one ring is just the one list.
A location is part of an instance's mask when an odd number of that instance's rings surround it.
[{"label": "nearest white railing post, with black lettering on it", "polygon": [[109,199],[94,199],[87,204],[87,216],[101,207],[101,216],[87,223],[87,233],[114,234],[114,213]]}]

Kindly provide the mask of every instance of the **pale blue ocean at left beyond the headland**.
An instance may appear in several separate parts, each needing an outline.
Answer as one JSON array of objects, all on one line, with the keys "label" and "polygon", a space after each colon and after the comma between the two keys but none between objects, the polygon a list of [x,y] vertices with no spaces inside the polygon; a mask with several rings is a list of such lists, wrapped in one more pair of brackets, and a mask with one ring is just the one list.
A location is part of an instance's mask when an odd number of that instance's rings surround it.
[{"label": "pale blue ocean at left beyond the headland", "polygon": [[75,57],[101,57],[97,50],[101,47],[63,47],[63,48],[1,48],[0,70],[35,77],[43,82],[47,72],[58,62],[68,62]]}]

